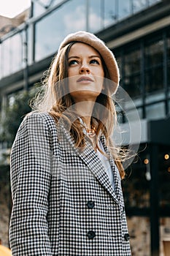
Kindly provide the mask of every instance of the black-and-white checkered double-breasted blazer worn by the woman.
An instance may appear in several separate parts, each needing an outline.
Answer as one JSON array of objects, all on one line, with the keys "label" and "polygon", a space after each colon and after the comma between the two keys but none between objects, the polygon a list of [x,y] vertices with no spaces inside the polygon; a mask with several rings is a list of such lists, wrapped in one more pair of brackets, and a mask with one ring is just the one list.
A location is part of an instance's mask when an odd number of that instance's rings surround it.
[{"label": "black-and-white checkered double-breasted blazer worn by the woman", "polygon": [[[101,143],[109,154],[106,141]],[[85,149],[48,113],[24,118],[12,146],[15,256],[130,256],[120,175],[115,191],[90,141]]]}]

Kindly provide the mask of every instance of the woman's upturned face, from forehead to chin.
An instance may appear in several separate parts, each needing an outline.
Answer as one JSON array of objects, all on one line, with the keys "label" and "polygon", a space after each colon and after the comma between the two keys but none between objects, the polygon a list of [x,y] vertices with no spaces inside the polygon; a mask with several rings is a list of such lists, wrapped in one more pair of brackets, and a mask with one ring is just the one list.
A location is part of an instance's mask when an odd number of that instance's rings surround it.
[{"label": "woman's upturned face, from forehead to chin", "polygon": [[69,93],[74,102],[96,101],[104,82],[99,53],[90,45],[76,42],[68,56]]}]

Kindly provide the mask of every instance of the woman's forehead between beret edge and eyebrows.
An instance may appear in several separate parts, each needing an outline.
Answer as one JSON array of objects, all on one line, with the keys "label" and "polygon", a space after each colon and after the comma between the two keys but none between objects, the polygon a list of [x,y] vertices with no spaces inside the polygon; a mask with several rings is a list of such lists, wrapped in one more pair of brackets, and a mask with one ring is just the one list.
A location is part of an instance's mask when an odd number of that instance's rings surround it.
[{"label": "woman's forehead between beret edge and eyebrows", "polygon": [[100,54],[98,53],[97,50],[95,50],[93,47],[90,45],[85,44],[84,42],[75,42],[74,45],[69,50],[69,56],[72,55],[96,55],[100,57]]}]

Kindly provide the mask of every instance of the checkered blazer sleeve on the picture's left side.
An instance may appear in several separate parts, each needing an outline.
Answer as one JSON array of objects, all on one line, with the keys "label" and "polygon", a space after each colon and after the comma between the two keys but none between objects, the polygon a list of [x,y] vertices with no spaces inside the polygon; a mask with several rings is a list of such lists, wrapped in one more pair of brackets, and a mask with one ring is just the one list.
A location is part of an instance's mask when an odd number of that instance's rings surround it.
[{"label": "checkered blazer sleeve on the picture's left side", "polygon": [[50,140],[47,122],[41,114],[31,113],[12,146],[9,242],[13,256],[52,255],[47,224]]}]

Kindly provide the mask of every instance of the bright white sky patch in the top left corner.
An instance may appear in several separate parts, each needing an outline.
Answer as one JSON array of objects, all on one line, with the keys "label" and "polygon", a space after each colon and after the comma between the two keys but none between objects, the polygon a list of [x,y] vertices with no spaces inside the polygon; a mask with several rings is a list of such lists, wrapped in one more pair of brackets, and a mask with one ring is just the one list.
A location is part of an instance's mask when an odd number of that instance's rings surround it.
[{"label": "bright white sky patch in the top left corner", "polygon": [[31,5],[31,0],[0,0],[0,15],[14,18]]}]

